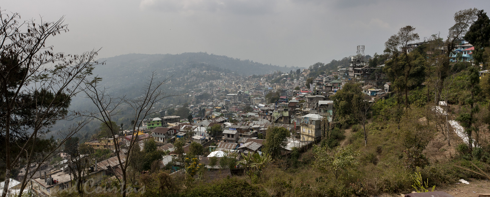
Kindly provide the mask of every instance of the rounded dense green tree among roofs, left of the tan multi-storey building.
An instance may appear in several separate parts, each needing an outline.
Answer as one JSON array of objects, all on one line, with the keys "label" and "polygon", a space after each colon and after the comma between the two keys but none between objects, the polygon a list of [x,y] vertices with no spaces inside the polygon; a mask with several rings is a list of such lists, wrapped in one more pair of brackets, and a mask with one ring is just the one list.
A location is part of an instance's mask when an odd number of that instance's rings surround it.
[{"label": "rounded dense green tree among roofs, left of the tan multi-storey building", "polygon": [[281,156],[281,150],[288,143],[287,138],[291,134],[288,129],[280,126],[270,126],[267,129],[264,152],[270,154],[272,159]]}]

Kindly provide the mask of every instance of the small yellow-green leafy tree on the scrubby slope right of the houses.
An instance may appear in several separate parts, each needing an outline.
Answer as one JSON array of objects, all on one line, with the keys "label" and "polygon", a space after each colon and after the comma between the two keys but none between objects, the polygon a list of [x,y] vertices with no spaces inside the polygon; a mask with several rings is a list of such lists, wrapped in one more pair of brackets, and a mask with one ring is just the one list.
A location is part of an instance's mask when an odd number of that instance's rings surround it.
[{"label": "small yellow-green leafy tree on the scrubby slope right of the houses", "polygon": [[345,148],[337,147],[329,149],[326,147],[315,147],[315,167],[322,172],[331,172],[335,176],[335,181],[339,180],[349,167],[358,164],[356,156],[360,155],[352,146]]}]

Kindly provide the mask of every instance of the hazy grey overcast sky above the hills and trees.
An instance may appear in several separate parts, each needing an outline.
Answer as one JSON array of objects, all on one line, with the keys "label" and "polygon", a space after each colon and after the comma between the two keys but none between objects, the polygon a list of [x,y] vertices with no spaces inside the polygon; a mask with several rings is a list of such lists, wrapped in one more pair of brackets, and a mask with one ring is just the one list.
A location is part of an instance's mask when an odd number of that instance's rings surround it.
[{"label": "hazy grey overcast sky above the hills and trees", "polygon": [[127,53],[208,52],[308,67],[354,55],[382,53],[405,25],[423,37],[454,24],[454,13],[489,0],[4,0],[23,20],[65,15],[70,32],[53,37],[55,50]]}]

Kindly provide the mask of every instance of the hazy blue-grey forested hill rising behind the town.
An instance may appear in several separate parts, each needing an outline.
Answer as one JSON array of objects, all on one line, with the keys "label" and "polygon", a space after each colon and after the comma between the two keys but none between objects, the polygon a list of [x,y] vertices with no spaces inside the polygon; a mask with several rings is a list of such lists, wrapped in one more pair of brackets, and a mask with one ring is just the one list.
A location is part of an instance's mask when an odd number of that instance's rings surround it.
[{"label": "hazy blue-grey forested hill rising behind the town", "polygon": [[[140,96],[141,88],[146,85],[148,76],[155,71],[159,79],[171,77],[162,86],[168,94],[185,94],[202,81],[220,79],[220,73],[239,75],[269,74],[274,71],[290,72],[298,67],[279,67],[261,64],[249,60],[240,60],[205,52],[187,52],[181,54],[125,54],[101,58],[94,75],[102,78],[100,85],[109,88],[116,96],[128,98]],[[165,104],[181,104],[184,98],[167,99]],[[73,98],[72,109],[87,108],[91,103],[80,97]]]}]

